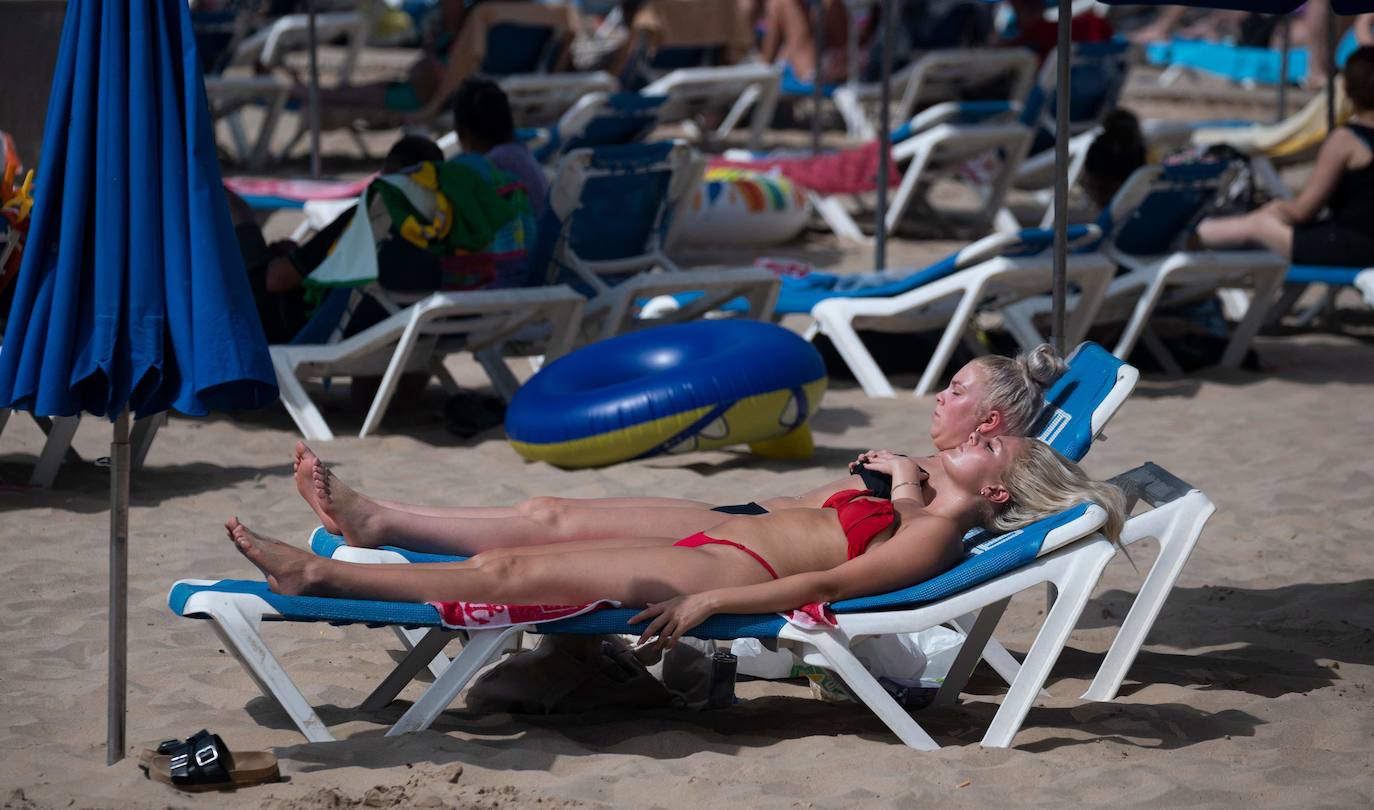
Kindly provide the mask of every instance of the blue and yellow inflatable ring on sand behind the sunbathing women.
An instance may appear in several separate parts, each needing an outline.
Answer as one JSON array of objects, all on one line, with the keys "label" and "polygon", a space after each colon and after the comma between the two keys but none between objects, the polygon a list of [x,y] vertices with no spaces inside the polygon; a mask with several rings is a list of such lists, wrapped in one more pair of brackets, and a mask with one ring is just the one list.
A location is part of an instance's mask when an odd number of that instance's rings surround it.
[{"label": "blue and yellow inflatable ring on sand behind the sunbathing women", "polygon": [[521,456],[569,468],[741,442],[798,459],[824,391],[820,354],[782,327],[672,324],[548,364],[511,400],[506,435]]}]

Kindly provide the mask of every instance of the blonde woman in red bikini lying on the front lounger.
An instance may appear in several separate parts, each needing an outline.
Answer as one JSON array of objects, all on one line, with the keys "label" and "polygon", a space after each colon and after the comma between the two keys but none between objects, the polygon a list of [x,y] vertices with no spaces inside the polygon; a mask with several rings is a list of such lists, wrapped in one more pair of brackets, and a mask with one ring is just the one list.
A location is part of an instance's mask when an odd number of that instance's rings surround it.
[{"label": "blonde woman in red bikini lying on the front lounger", "polygon": [[[813,601],[881,593],[927,579],[963,553],[974,527],[1007,531],[1083,501],[1109,515],[1116,540],[1121,493],[1090,481],[1039,439],[971,432],[923,459],[870,453],[892,475],[892,500],[867,490],[833,496],[823,508],[736,516],[677,542],[606,537],[504,548],[460,563],[365,564],[317,557],[254,534],[231,519],[238,549],[272,590],[390,601],[583,604],[611,599],[647,605],[642,641],[672,645],[717,612],[758,614]],[[330,491],[317,497],[328,502]]]}]

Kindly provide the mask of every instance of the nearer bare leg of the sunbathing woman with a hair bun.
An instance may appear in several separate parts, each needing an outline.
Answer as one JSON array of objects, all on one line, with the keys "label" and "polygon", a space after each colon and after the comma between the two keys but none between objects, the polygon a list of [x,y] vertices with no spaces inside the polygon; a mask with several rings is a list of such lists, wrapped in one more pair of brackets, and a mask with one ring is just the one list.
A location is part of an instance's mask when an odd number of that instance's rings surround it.
[{"label": "nearer bare leg of the sunbathing woman with a hair bun", "polygon": [[382,507],[338,481],[317,459],[311,467],[313,504],[345,541],[364,548],[393,544],[433,553],[475,555],[497,548],[607,537],[677,540],[728,519],[728,515],[701,508],[587,509],[561,504],[499,518],[437,518]]}]

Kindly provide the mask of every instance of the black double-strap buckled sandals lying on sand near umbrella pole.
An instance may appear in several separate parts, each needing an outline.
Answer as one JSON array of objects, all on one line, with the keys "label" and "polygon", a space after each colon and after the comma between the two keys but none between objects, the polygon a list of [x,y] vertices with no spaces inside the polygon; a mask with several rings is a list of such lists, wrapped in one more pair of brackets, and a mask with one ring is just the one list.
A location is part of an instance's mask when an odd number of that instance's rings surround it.
[{"label": "black double-strap buckled sandals lying on sand near umbrella pole", "polygon": [[201,729],[184,741],[164,740],[146,748],[139,766],[148,778],[188,792],[246,788],[280,781],[271,751],[229,751],[218,734]]}]

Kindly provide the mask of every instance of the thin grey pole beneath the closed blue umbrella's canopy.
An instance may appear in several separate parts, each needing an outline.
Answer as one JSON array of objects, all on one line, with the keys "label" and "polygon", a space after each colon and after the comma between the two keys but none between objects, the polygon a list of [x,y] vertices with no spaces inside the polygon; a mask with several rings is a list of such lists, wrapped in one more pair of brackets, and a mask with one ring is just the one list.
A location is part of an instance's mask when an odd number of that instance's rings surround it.
[{"label": "thin grey pole beneath the closed blue umbrella's canopy", "polygon": [[114,420],[110,442],[110,644],[104,763],[124,759],[129,636],[129,412]]}]

